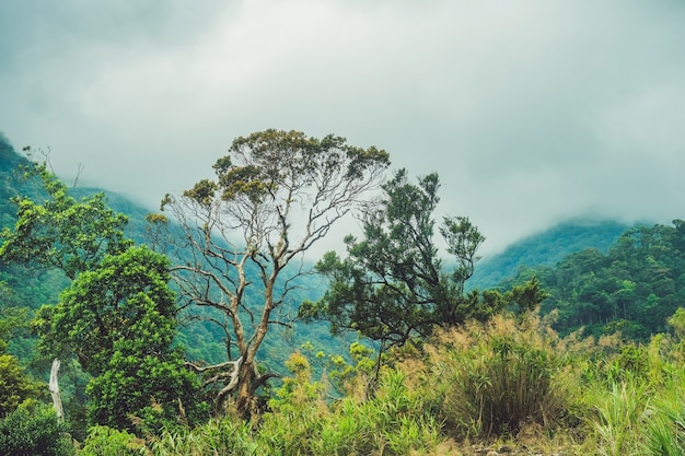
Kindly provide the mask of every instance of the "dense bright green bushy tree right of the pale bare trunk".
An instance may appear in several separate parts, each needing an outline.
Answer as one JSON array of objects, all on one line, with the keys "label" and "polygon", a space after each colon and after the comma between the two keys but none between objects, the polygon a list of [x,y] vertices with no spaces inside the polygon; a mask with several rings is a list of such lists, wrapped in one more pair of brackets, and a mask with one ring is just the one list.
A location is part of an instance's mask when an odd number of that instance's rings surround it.
[{"label": "dense bright green bushy tree right of the pale bare trunk", "polygon": [[86,387],[92,423],[138,432],[142,423],[159,432],[176,421],[179,404],[186,419],[197,421],[199,384],[181,348],[173,348],[176,301],[169,281],[166,257],[130,247],[80,273],[59,304],[42,308],[44,348],[73,351],[93,375]]}]

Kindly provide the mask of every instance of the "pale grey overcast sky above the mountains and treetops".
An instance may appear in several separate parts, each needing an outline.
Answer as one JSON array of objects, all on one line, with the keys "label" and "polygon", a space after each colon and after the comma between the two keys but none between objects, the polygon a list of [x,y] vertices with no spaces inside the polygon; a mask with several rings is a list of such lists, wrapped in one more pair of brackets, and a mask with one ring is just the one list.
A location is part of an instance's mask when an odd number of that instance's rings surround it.
[{"label": "pale grey overcast sky above the mountains and treetops", "polygon": [[2,0],[0,97],[15,149],[150,208],[277,128],[438,172],[486,256],[685,218],[682,0]]}]

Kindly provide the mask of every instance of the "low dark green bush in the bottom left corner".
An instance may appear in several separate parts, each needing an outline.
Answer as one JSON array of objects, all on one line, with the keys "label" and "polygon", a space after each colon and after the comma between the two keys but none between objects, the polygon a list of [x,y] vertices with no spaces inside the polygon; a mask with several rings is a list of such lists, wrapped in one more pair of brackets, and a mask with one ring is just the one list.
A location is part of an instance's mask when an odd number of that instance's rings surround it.
[{"label": "low dark green bush in the bottom left corner", "polygon": [[47,407],[20,408],[0,420],[0,454],[12,456],[69,456],[71,439]]}]

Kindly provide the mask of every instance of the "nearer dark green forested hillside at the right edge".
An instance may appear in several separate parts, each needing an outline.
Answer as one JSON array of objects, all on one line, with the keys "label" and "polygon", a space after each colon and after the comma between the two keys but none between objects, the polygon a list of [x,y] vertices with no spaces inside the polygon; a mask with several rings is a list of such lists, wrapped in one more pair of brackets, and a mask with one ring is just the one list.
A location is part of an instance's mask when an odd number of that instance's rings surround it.
[{"label": "nearer dark green forested hillside at the right edge", "polygon": [[647,340],[666,331],[685,303],[685,223],[629,229],[605,252],[585,248],[554,267],[523,270],[519,279],[531,274],[549,293],[542,311],[558,311],[561,334],[584,327],[595,336],[619,330]]}]

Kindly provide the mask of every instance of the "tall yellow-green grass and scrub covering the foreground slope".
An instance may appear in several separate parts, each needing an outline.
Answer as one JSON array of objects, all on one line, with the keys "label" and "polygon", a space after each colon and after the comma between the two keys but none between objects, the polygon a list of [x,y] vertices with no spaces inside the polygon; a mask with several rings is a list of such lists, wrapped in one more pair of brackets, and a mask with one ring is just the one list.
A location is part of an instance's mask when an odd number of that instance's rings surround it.
[{"label": "tall yellow-green grass and scrub covering the foreground slope", "polygon": [[[684,343],[560,338],[550,319],[500,316],[405,347],[373,395],[367,363],[344,396],[313,378],[325,356],[295,352],[269,411],[140,441],[91,430],[81,455],[682,455]],[[329,365],[332,370],[336,369]],[[341,369],[338,365],[337,369]],[[350,372],[352,373],[350,375]],[[335,377],[335,375],[333,375]],[[488,453],[490,452],[490,453]]]}]

